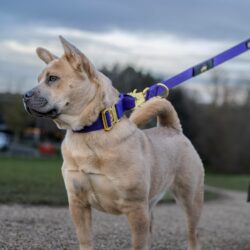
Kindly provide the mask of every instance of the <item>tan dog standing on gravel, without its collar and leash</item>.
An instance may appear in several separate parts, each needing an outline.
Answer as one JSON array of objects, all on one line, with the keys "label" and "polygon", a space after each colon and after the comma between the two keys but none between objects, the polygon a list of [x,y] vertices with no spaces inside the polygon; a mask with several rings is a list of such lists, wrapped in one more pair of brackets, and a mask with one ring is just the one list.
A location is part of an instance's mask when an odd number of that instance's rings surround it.
[{"label": "tan dog standing on gravel, without its collar and leash", "polygon": [[[153,98],[109,132],[74,133],[115,104],[118,92],[83,53],[60,38],[65,51],[61,58],[37,49],[47,67],[24,102],[31,114],[50,117],[67,129],[62,173],[80,249],[92,249],[92,207],[126,214],[133,250],[149,249],[153,208],[168,188],[187,216],[188,249],[198,249],[204,171],[173,106]],[[138,128],[155,116],[156,128]]]}]

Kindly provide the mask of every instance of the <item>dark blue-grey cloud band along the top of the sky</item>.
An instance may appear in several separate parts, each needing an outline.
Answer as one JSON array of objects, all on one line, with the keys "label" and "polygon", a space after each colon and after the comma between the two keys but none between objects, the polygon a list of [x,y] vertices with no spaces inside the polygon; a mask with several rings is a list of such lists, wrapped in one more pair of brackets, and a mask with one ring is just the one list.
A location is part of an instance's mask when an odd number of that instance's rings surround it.
[{"label": "dark blue-grey cloud band along the top of the sky", "polygon": [[[167,32],[205,39],[249,35],[250,1],[33,0],[1,3],[1,25],[62,26],[88,31]],[[6,25],[7,24],[7,25]]]}]

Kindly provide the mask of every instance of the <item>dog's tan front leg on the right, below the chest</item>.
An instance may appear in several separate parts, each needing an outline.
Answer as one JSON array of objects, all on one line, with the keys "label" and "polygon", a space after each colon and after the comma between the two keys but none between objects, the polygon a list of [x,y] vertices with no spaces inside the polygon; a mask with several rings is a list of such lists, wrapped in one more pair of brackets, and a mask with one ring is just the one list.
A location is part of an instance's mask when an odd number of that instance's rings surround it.
[{"label": "dog's tan front leg on the right, below the chest", "polygon": [[142,207],[128,214],[128,222],[131,228],[132,249],[148,250],[150,238],[150,215],[148,208]]}]

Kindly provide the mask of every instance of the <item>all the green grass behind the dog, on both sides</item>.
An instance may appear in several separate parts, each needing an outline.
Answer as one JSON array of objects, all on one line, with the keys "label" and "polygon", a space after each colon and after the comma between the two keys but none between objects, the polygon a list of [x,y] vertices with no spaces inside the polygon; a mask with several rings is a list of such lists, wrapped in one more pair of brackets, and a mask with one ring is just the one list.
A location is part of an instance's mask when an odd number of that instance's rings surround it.
[{"label": "all the green grass behind the dog, on both sides", "polygon": [[[0,203],[66,205],[67,196],[58,158],[0,157]],[[250,176],[206,174],[206,185],[246,191]],[[205,200],[219,195],[205,192]],[[163,202],[173,199],[166,195]]]}]

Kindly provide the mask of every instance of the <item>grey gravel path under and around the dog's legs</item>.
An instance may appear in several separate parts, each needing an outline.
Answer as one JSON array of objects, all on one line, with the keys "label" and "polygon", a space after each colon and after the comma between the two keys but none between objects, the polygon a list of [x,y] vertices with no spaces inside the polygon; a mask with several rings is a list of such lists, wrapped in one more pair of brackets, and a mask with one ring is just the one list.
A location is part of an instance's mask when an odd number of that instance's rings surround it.
[{"label": "grey gravel path under and around the dog's legs", "polygon": [[[227,192],[224,199],[205,204],[199,226],[202,249],[249,250],[250,203],[246,193]],[[124,216],[93,214],[95,250],[130,248]],[[186,249],[185,221],[174,204],[155,209],[153,250]],[[0,205],[0,249],[77,250],[67,208]]]}]

